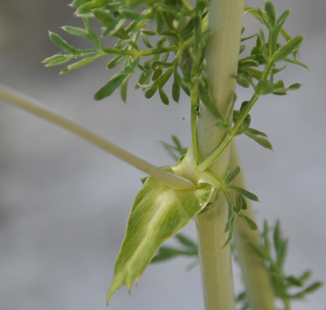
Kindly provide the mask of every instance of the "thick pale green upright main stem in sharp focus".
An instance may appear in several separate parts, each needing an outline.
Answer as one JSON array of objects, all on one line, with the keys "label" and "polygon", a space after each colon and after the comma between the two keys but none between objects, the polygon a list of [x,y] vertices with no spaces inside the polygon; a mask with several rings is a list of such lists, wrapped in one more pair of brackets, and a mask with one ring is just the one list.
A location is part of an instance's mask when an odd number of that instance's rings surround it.
[{"label": "thick pale green upright main stem in sharp focus", "polygon": [[[217,108],[226,117],[232,107],[237,74],[243,0],[211,0],[209,29],[206,45],[205,72],[210,92]],[[199,163],[207,158],[222,142],[226,132],[216,126],[216,118],[200,104],[197,140]],[[224,179],[229,171],[230,149],[226,147],[209,168]],[[224,195],[211,210],[196,217],[200,264],[206,310],[234,310],[234,289],[230,246],[222,248],[228,233],[224,232],[228,206]]]}]

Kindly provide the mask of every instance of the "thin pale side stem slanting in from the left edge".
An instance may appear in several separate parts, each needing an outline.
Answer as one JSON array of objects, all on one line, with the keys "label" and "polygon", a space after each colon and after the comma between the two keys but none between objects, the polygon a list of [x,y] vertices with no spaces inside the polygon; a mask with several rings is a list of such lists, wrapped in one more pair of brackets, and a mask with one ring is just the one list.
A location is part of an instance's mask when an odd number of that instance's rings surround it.
[{"label": "thin pale side stem slanting in from the left edge", "polygon": [[25,96],[8,86],[0,84],[0,98],[77,134],[78,136],[88,140],[103,150],[126,161],[132,166],[144,171],[145,173],[153,176],[157,180],[169,185],[174,189],[191,190],[196,188],[196,186],[189,180],[179,177],[164,169],[158,168],[142,158],[125,151],[124,149],[90,131],[86,127],[63,117],[54,111],[51,111],[40,102]]}]

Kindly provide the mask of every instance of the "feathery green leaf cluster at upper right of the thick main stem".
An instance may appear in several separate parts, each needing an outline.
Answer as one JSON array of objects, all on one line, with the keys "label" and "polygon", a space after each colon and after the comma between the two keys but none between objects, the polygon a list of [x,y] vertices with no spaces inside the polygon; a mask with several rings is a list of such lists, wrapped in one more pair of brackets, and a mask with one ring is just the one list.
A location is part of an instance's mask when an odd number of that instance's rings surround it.
[{"label": "feathery green leaf cluster at upper right of the thick main stem", "polygon": [[[304,37],[291,38],[284,30],[283,26],[289,17],[290,9],[285,10],[276,18],[274,5],[272,2],[266,1],[264,10],[245,6],[245,12],[252,14],[262,22],[267,28],[268,35],[266,36],[264,30],[260,28],[256,34],[241,39],[244,42],[256,38],[256,45],[251,49],[250,55],[239,59],[238,74],[235,78],[240,86],[245,88],[252,86],[255,93],[250,100],[242,103],[240,110],[233,111],[232,135],[245,134],[263,147],[272,150],[273,147],[268,136],[250,127],[249,111],[260,95],[286,95],[288,91],[300,88],[300,83],[286,87],[283,80],[275,81],[274,76],[287,68],[284,63],[293,63],[308,68],[297,60],[300,44]],[[243,27],[242,32],[244,30],[245,27]],[[285,41],[283,45],[279,41],[280,36]],[[240,54],[245,48],[246,45],[242,44]],[[279,62],[282,62],[282,66],[278,66]],[[220,123],[219,120],[216,125],[220,126]]]}]

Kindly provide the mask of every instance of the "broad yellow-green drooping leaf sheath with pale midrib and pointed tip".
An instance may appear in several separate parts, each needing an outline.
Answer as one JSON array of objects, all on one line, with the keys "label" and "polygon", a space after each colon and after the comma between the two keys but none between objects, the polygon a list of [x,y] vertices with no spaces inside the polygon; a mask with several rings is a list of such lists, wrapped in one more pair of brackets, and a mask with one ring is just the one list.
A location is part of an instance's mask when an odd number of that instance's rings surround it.
[{"label": "broad yellow-green drooping leaf sheath with pale midrib and pointed tip", "polygon": [[129,215],[107,302],[124,285],[130,290],[160,245],[205,208],[213,191],[212,185],[193,191],[178,191],[152,177],[146,179]]}]

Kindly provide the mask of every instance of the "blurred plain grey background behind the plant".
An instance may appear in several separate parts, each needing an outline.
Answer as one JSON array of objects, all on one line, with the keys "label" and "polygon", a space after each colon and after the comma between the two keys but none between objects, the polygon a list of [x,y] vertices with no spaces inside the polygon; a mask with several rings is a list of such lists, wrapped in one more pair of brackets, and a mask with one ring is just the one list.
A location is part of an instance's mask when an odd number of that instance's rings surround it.
[{"label": "blurred plain grey background behind the plant", "polygon": [[[287,85],[303,83],[289,96],[266,96],[253,109],[252,126],[270,137],[274,152],[240,137],[249,189],[259,225],[280,218],[289,237],[286,270],[314,271],[326,280],[326,2],[275,0],[277,13],[291,7],[286,28],[304,34],[300,60],[310,71],[289,66]],[[112,75],[101,59],[58,76],[59,67],[41,61],[59,52],[48,30],[76,47],[84,41],[65,36],[63,25],[81,25],[68,0],[0,0],[0,81],[146,160],[173,164],[160,145],[176,134],[190,142],[189,104],[164,106],[144,99],[130,83],[127,104],[119,92],[100,102],[93,94]],[[248,5],[263,6],[263,1]],[[245,19],[251,31],[257,22]],[[248,32],[249,33],[249,32]],[[237,90],[239,99],[248,92]],[[239,101],[240,101],[239,100]],[[183,119],[185,118],[185,119]],[[0,308],[106,309],[106,293],[143,173],[54,125],[1,102],[0,105]],[[185,232],[195,238],[194,224]],[[132,289],[120,289],[110,309],[203,309],[200,270],[185,271],[191,259],[150,266]],[[236,272],[236,288],[241,287]],[[296,310],[325,309],[325,288]]]}]

